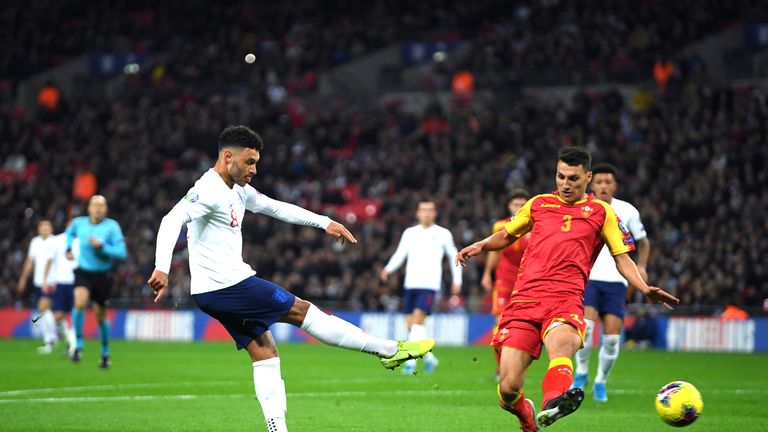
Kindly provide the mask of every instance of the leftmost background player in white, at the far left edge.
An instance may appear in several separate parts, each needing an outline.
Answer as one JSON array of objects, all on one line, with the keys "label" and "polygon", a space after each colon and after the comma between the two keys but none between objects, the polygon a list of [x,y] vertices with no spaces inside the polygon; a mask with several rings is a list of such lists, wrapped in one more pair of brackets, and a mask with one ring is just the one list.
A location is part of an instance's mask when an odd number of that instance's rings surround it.
[{"label": "leftmost background player in white, at the far left edge", "polygon": [[[37,223],[37,235],[29,243],[29,252],[21,270],[17,289],[23,293],[27,288],[27,279],[32,273],[34,291],[32,293],[32,307],[37,307],[33,324],[40,329],[43,337],[43,346],[37,349],[40,354],[50,354],[59,338],[56,335],[56,319],[51,312],[51,292],[54,281],[48,279],[55,246],[53,242],[53,225],[49,220],[41,220]],[[34,273],[33,273],[34,270]]]}]

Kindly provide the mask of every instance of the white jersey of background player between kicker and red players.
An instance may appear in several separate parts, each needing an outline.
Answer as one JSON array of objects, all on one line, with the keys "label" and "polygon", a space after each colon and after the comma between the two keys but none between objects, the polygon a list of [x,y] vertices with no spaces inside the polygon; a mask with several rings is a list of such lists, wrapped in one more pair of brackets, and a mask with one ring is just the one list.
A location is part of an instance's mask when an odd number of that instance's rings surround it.
[{"label": "white jersey of background player between kicker and red players", "polygon": [[[452,261],[457,253],[450,231],[439,225],[429,228],[416,225],[403,231],[395,253],[384,268],[392,273],[407,260],[405,289],[440,291],[443,285],[443,257]],[[461,285],[461,267],[451,263],[451,269],[453,283]]]}]

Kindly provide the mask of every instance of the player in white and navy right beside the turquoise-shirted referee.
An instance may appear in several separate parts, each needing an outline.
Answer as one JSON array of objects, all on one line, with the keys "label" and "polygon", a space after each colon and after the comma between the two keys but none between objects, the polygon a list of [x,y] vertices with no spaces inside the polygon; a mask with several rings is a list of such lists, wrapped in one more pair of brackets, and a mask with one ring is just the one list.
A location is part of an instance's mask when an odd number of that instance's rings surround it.
[{"label": "player in white and navy right beside the turquoise-shirted referee", "polygon": [[[72,254],[77,257],[80,253],[80,240],[72,243]],[[75,349],[75,332],[67,322],[67,314],[72,312],[75,301],[75,269],[77,261],[67,258],[67,234],[61,233],[53,236],[53,254],[50,258],[51,265],[46,266],[46,275],[49,281],[53,281],[53,316],[56,319],[56,330],[59,339],[64,340],[67,349]]]}]

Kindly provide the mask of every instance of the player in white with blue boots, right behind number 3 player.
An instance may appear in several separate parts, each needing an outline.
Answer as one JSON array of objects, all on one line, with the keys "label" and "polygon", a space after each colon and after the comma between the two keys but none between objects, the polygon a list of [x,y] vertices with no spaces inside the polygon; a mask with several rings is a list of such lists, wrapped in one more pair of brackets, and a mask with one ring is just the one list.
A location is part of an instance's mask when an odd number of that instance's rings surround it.
[{"label": "player in white with blue boots, right behind number 3 player", "polygon": [[[630,203],[614,198],[616,193],[617,170],[613,165],[601,163],[592,167],[592,192],[597,198],[613,207],[622,230],[629,230],[637,247],[637,269],[644,280],[648,280],[646,267],[651,246],[640,220],[640,212]],[[608,394],[605,383],[619,356],[619,339],[624,324],[624,300],[627,296],[627,280],[616,270],[613,258],[606,246],[600,251],[589,283],[584,292],[584,319],[587,332],[584,347],[576,353],[576,376],[573,387],[584,388],[589,381],[589,356],[592,350],[592,330],[595,321],[602,319],[603,337],[598,355],[597,376],[593,386],[596,401],[606,402]]]}]

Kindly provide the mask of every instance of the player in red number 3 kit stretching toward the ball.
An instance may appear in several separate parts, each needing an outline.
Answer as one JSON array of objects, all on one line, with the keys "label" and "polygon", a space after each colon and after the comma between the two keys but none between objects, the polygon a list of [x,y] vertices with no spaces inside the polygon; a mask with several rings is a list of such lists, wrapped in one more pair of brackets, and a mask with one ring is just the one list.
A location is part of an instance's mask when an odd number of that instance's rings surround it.
[{"label": "player in red number 3 kit stretching toward the ball", "polygon": [[[557,191],[530,199],[503,231],[465,247],[456,263],[482,251],[503,249],[531,232],[530,242],[510,304],[504,310],[494,344],[502,347],[499,404],[516,415],[523,431],[536,431],[571,414],[584,399],[573,382],[571,357],[584,340],[582,296],[590,269],[603,244],[607,244],[616,268],[652,303],[667,307],[678,300],[657,287],[648,286],[629,257],[632,237],[622,231],[610,205],[586,189],[592,180],[591,156],[581,147],[558,155]],[[525,372],[547,349],[549,370],[542,382],[542,411],[523,395]]]}]

